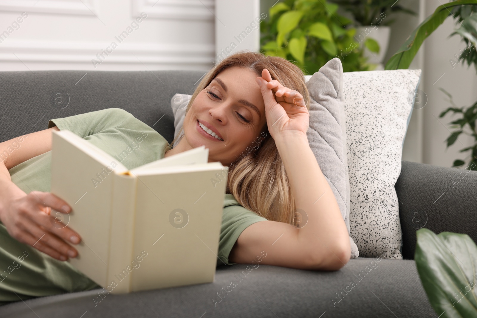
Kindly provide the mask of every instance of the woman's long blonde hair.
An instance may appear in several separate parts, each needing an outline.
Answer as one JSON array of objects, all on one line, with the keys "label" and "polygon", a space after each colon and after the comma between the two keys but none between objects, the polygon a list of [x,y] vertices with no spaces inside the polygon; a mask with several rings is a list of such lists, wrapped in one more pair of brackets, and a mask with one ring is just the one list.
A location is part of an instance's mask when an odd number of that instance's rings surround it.
[{"label": "woman's long blonde hair", "polygon": [[[252,51],[239,51],[232,54],[207,72],[200,81],[189,103],[189,111],[197,94],[204,90],[210,82],[225,69],[239,66],[257,73],[261,76],[262,70],[267,69],[273,80],[279,81],[283,86],[296,90],[303,95],[306,108],[310,109],[310,93],[306,87],[303,72],[295,64],[277,56],[265,56]],[[176,138],[183,137],[184,128],[181,128]],[[243,207],[265,217],[270,221],[284,222],[297,225],[295,220],[295,199],[291,191],[285,166],[281,161],[275,141],[270,136],[267,124],[264,126],[266,133],[256,149],[250,149],[245,155],[230,165],[227,174],[227,191],[232,194]],[[263,132],[261,136],[263,137]],[[258,138],[257,138],[258,140]]]}]

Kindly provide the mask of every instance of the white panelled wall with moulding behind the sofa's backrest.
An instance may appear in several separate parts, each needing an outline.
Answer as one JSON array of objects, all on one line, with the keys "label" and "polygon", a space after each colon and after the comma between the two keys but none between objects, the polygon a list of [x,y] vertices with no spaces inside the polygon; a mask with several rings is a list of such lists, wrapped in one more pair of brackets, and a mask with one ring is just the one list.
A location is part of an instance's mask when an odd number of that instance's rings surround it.
[{"label": "white panelled wall with moulding behind the sofa's backrest", "polygon": [[[0,70],[209,70],[214,10],[214,0],[0,0],[0,33],[28,14],[0,42]],[[143,11],[147,18],[131,27]]]}]

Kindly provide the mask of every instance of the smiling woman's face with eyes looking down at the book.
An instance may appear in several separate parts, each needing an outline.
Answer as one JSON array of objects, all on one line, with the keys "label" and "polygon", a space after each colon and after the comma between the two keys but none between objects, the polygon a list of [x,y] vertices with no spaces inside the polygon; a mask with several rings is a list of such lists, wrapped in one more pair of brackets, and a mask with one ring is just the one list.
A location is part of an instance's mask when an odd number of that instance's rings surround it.
[{"label": "smiling woman's face with eyes looking down at the book", "polygon": [[[184,119],[184,133],[191,148],[205,145],[209,162],[229,166],[247,147],[253,147],[265,128],[265,105],[255,78],[259,75],[248,69],[233,66],[198,93]],[[215,132],[204,131],[200,125]],[[262,134],[263,135],[263,134]],[[256,145],[254,143],[254,145]]]}]

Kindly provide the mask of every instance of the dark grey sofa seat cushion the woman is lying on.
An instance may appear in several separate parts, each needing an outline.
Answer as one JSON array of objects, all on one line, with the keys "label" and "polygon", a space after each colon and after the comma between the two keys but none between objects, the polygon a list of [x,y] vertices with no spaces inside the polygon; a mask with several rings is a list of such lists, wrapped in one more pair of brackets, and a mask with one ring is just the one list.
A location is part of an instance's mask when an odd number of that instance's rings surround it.
[{"label": "dark grey sofa seat cushion the woman is lying on", "polygon": [[3,317],[51,318],[85,312],[88,318],[317,318],[324,312],[328,318],[436,317],[414,260],[367,257],[351,259],[334,272],[236,264],[218,267],[210,284],[124,295],[95,289],[18,301],[1,312]]}]

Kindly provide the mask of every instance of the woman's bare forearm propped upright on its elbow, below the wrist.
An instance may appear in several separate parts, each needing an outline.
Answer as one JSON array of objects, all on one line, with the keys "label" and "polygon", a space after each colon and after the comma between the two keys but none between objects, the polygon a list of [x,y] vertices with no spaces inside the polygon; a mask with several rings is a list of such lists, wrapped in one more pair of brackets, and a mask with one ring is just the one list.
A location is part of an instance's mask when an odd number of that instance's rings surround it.
[{"label": "woman's bare forearm propped upright on its elbow, below the wrist", "polygon": [[275,139],[275,144],[290,180],[295,207],[308,217],[298,231],[299,241],[310,246],[311,253],[317,253],[322,265],[346,263],[351,255],[348,230],[306,135],[284,134]]}]

